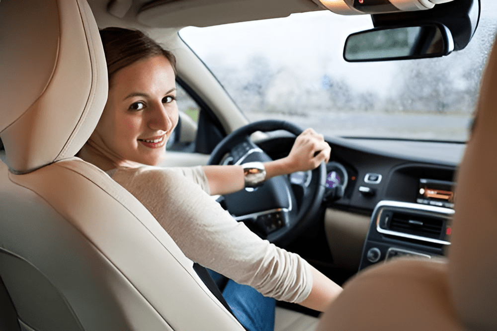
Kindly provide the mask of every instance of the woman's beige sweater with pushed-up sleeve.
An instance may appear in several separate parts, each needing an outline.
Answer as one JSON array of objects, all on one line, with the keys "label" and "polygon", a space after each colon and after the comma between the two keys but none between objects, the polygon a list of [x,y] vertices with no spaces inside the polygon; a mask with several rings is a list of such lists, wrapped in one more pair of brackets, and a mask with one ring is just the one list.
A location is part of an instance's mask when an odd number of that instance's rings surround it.
[{"label": "woman's beige sweater with pushed-up sleeve", "polygon": [[209,196],[201,166],[120,167],[107,173],[140,200],[191,260],[277,300],[298,303],[311,292],[309,264],[236,222]]}]

